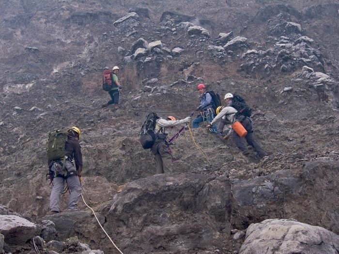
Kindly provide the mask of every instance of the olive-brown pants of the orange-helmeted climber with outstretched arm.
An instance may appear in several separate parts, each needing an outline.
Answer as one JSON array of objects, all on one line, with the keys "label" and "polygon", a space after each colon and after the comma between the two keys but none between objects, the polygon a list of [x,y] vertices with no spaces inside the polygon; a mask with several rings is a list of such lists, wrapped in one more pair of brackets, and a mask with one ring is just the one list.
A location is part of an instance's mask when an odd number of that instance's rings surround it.
[{"label": "olive-brown pants of the orange-helmeted climber with outstretched arm", "polygon": [[152,151],[156,162],[156,174],[171,173],[173,170],[172,155],[165,142],[155,144]]}]

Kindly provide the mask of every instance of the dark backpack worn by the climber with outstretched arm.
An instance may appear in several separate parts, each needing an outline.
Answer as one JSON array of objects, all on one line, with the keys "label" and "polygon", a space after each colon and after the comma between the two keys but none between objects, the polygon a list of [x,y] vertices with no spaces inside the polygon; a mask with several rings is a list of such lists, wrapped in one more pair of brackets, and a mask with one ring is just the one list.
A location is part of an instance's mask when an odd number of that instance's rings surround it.
[{"label": "dark backpack worn by the climber with outstretched arm", "polygon": [[154,129],[157,119],[159,119],[159,117],[155,113],[148,113],[146,116],[146,120],[141,126],[139,142],[143,149],[149,149],[154,145],[154,141],[156,138]]}]

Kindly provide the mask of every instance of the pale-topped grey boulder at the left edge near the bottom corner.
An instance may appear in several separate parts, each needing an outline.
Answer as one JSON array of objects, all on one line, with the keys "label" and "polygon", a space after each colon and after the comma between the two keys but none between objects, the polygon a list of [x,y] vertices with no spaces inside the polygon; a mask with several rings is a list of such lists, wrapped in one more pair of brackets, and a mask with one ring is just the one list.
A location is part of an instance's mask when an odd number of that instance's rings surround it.
[{"label": "pale-topped grey boulder at the left edge near the bottom corner", "polygon": [[0,215],[0,233],[10,245],[25,243],[34,237],[36,225],[16,215]]}]

